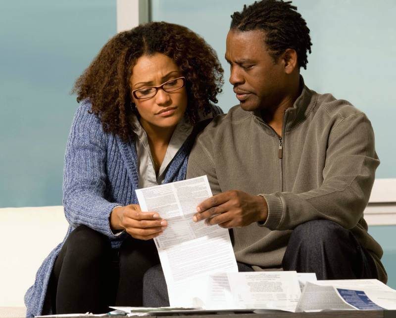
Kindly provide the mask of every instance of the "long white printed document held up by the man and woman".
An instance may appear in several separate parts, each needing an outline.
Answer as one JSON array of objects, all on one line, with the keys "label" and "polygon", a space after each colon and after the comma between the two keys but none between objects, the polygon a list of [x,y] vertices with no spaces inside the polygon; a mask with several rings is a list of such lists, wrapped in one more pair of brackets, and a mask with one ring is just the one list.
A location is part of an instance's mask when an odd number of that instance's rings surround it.
[{"label": "long white printed document held up by the man and woman", "polygon": [[228,229],[193,222],[200,202],[212,196],[206,176],[136,190],[142,211],[168,222],[154,238],[172,307],[202,307],[209,274],[238,272]]}]

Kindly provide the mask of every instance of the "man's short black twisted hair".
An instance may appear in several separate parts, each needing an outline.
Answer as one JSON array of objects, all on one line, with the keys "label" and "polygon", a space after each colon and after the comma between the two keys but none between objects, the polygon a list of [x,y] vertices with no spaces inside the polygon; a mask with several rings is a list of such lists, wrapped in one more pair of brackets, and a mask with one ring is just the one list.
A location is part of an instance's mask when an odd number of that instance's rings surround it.
[{"label": "man's short black twisted hair", "polygon": [[239,31],[262,30],[265,44],[274,60],[287,49],[297,52],[298,66],[306,69],[307,51],[311,53],[309,29],[292,1],[262,0],[244,5],[241,12],[231,15],[230,29]]}]

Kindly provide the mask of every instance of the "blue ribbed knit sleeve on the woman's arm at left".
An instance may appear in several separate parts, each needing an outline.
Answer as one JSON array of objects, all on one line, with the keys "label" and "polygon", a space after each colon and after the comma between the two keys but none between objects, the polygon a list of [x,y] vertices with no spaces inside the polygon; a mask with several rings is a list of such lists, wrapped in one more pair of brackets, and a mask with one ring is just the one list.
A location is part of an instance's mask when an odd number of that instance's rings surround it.
[{"label": "blue ribbed knit sleeve on the woman's arm at left", "polygon": [[88,102],[74,116],[66,146],[63,171],[63,206],[72,227],[86,225],[115,238],[109,216],[119,205],[104,199],[106,135],[99,118],[88,113]]}]

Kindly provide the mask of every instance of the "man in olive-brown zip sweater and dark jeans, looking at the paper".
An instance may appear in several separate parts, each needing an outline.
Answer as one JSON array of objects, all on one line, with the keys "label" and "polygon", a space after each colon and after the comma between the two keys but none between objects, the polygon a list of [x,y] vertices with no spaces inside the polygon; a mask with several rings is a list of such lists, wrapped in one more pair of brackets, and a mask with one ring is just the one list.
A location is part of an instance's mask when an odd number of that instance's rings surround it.
[{"label": "man in olive-brown zip sweater and dark jeans, looking at the paper", "polygon": [[[207,175],[214,194],[194,221],[232,228],[240,271],[386,282],[363,219],[379,164],[373,130],[347,101],[304,85],[311,41],[296,9],[263,0],[232,15],[225,57],[240,104],[191,152],[187,177]],[[161,269],[145,279],[145,305],[167,305]]]}]

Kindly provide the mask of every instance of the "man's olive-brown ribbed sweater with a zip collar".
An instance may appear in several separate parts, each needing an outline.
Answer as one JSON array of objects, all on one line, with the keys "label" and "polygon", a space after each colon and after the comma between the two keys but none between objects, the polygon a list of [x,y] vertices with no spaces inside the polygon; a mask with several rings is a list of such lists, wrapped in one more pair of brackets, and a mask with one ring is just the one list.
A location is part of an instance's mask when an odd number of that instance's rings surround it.
[{"label": "man's olive-brown ribbed sweater with a zip collar", "polygon": [[350,229],[386,282],[382,248],[363,219],[378,165],[366,115],[305,86],[285,112],[282,138],[239,105],[217,116],[196,140],[187,178],[207,175],[213,194],[238,189],[266,199],[263,225],[233,229],[237,261],[281,268],[293,228],[323,219]]}]

